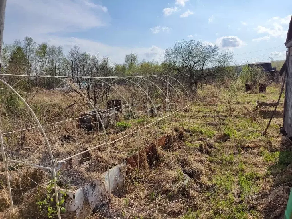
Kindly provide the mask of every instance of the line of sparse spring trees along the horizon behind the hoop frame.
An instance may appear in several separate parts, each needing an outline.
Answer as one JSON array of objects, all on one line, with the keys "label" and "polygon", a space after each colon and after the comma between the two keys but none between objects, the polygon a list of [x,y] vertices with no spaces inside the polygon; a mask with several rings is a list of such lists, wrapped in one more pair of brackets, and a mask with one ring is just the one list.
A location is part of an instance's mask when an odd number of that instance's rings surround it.
[{"label": "line of sparse spring trees along the horizon behind the hoop frame", "polygon": [[[6,74],[69,77],[166,74],[179,79],[189,89],[195,89],[198,83],[227,80],[238,74],[236,66],[231,66],[232,58],[233,54],[228,51],[220,51],[215,45],[192,39],[175,42],[173,47],[165,50],[161,63],[139,61],[135,53],[130,53],[125,56],[124,63],[115,64],[109,57],[83,52],[79,46],[73,46],[64,54],[62,46],[37,44],[31,37],[25,37],[22,41],[4,44],[1,71]],[[56,81],[47,80],[46,87],[56,86]],[[79,84],[90,81],[79,80]]]}]

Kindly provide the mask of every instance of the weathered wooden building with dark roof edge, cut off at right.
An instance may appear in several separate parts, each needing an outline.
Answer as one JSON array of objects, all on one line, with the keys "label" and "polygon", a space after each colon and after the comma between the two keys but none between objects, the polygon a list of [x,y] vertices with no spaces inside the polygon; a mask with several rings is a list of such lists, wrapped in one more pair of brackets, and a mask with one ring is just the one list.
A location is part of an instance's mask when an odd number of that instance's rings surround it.
[{"label": "weathered wooden building with dark roof edge, cut off at right", "polygon": [[287,48],[286,61],[280,70],[280,76],[286,75],[283,127],[286,136],[292,139],[292,17],[285,46]]}]

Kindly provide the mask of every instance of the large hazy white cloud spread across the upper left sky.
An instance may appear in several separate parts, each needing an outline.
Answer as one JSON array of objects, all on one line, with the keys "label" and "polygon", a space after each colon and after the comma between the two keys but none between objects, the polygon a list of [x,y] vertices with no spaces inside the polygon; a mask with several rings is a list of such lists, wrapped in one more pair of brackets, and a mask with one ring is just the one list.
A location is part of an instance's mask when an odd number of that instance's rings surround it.
[{"label": "large hazy white cloud spread across the upper left sky", "polygon": [[[55,32],[77,32],[107,25],[107,8],[83,0],[10,0],[6,22],[17,14],[25,19],[6,25],[8,38],[34,37]],[[7,36],[7,35],[6,35]]]}]

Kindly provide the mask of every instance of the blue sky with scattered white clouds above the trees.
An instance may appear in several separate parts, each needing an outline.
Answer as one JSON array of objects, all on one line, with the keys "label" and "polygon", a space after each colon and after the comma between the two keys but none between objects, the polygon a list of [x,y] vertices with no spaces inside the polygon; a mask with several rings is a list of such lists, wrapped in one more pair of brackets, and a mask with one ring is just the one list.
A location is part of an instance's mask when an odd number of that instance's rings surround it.
[{"label": "blue sky with scattered white clouds above the trees", "polygon": [[7,0],[4,43],[30,36],[123,63],[131,52],[161,62],[175,41],[194,39],[238,64],[265,62],[285,58],[291,8],[291,0]]}]

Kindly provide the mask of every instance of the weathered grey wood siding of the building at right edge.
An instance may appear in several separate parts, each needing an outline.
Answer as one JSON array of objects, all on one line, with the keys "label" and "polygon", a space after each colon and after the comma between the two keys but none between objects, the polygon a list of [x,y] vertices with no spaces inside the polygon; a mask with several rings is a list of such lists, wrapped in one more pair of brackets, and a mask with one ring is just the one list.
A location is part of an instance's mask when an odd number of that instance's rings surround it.
[{"label": "weathered grey wood siding of the building at right edge", "polygon": [[288,48],[287,78],[285,91],[284,128],[287,137],[292,137],[292,47]]}]

